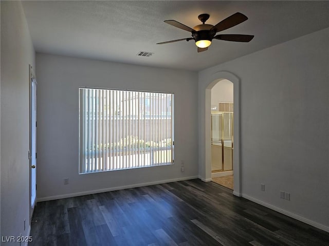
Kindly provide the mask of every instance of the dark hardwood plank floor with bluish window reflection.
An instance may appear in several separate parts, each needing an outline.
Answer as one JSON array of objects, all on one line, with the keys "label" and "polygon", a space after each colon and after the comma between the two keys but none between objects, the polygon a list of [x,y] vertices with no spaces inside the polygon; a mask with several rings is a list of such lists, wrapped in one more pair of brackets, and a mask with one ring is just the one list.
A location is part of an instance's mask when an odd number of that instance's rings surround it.
[{"label": "dark hardwood plank floor with bluish window reflection", "polygon": [[329,233],[198,179],[39,202],[29,245],[329,245]]}]

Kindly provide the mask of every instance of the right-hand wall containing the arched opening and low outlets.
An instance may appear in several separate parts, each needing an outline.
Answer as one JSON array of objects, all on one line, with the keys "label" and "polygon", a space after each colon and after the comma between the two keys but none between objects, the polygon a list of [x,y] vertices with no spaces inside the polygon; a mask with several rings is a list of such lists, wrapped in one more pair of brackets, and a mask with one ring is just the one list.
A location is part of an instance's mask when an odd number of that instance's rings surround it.
[{"label": "right-hand wall containing the arched opening and low outlets", "polygon": [[[240,78],[242,195],[329,231],[329,29],[199,73],[199,146],[213,74]],[[206,175],[205,149],[199,173]],[[260,184],[265,184],[261,192]],[[290,201],[280,199],[290,193]]]}]

